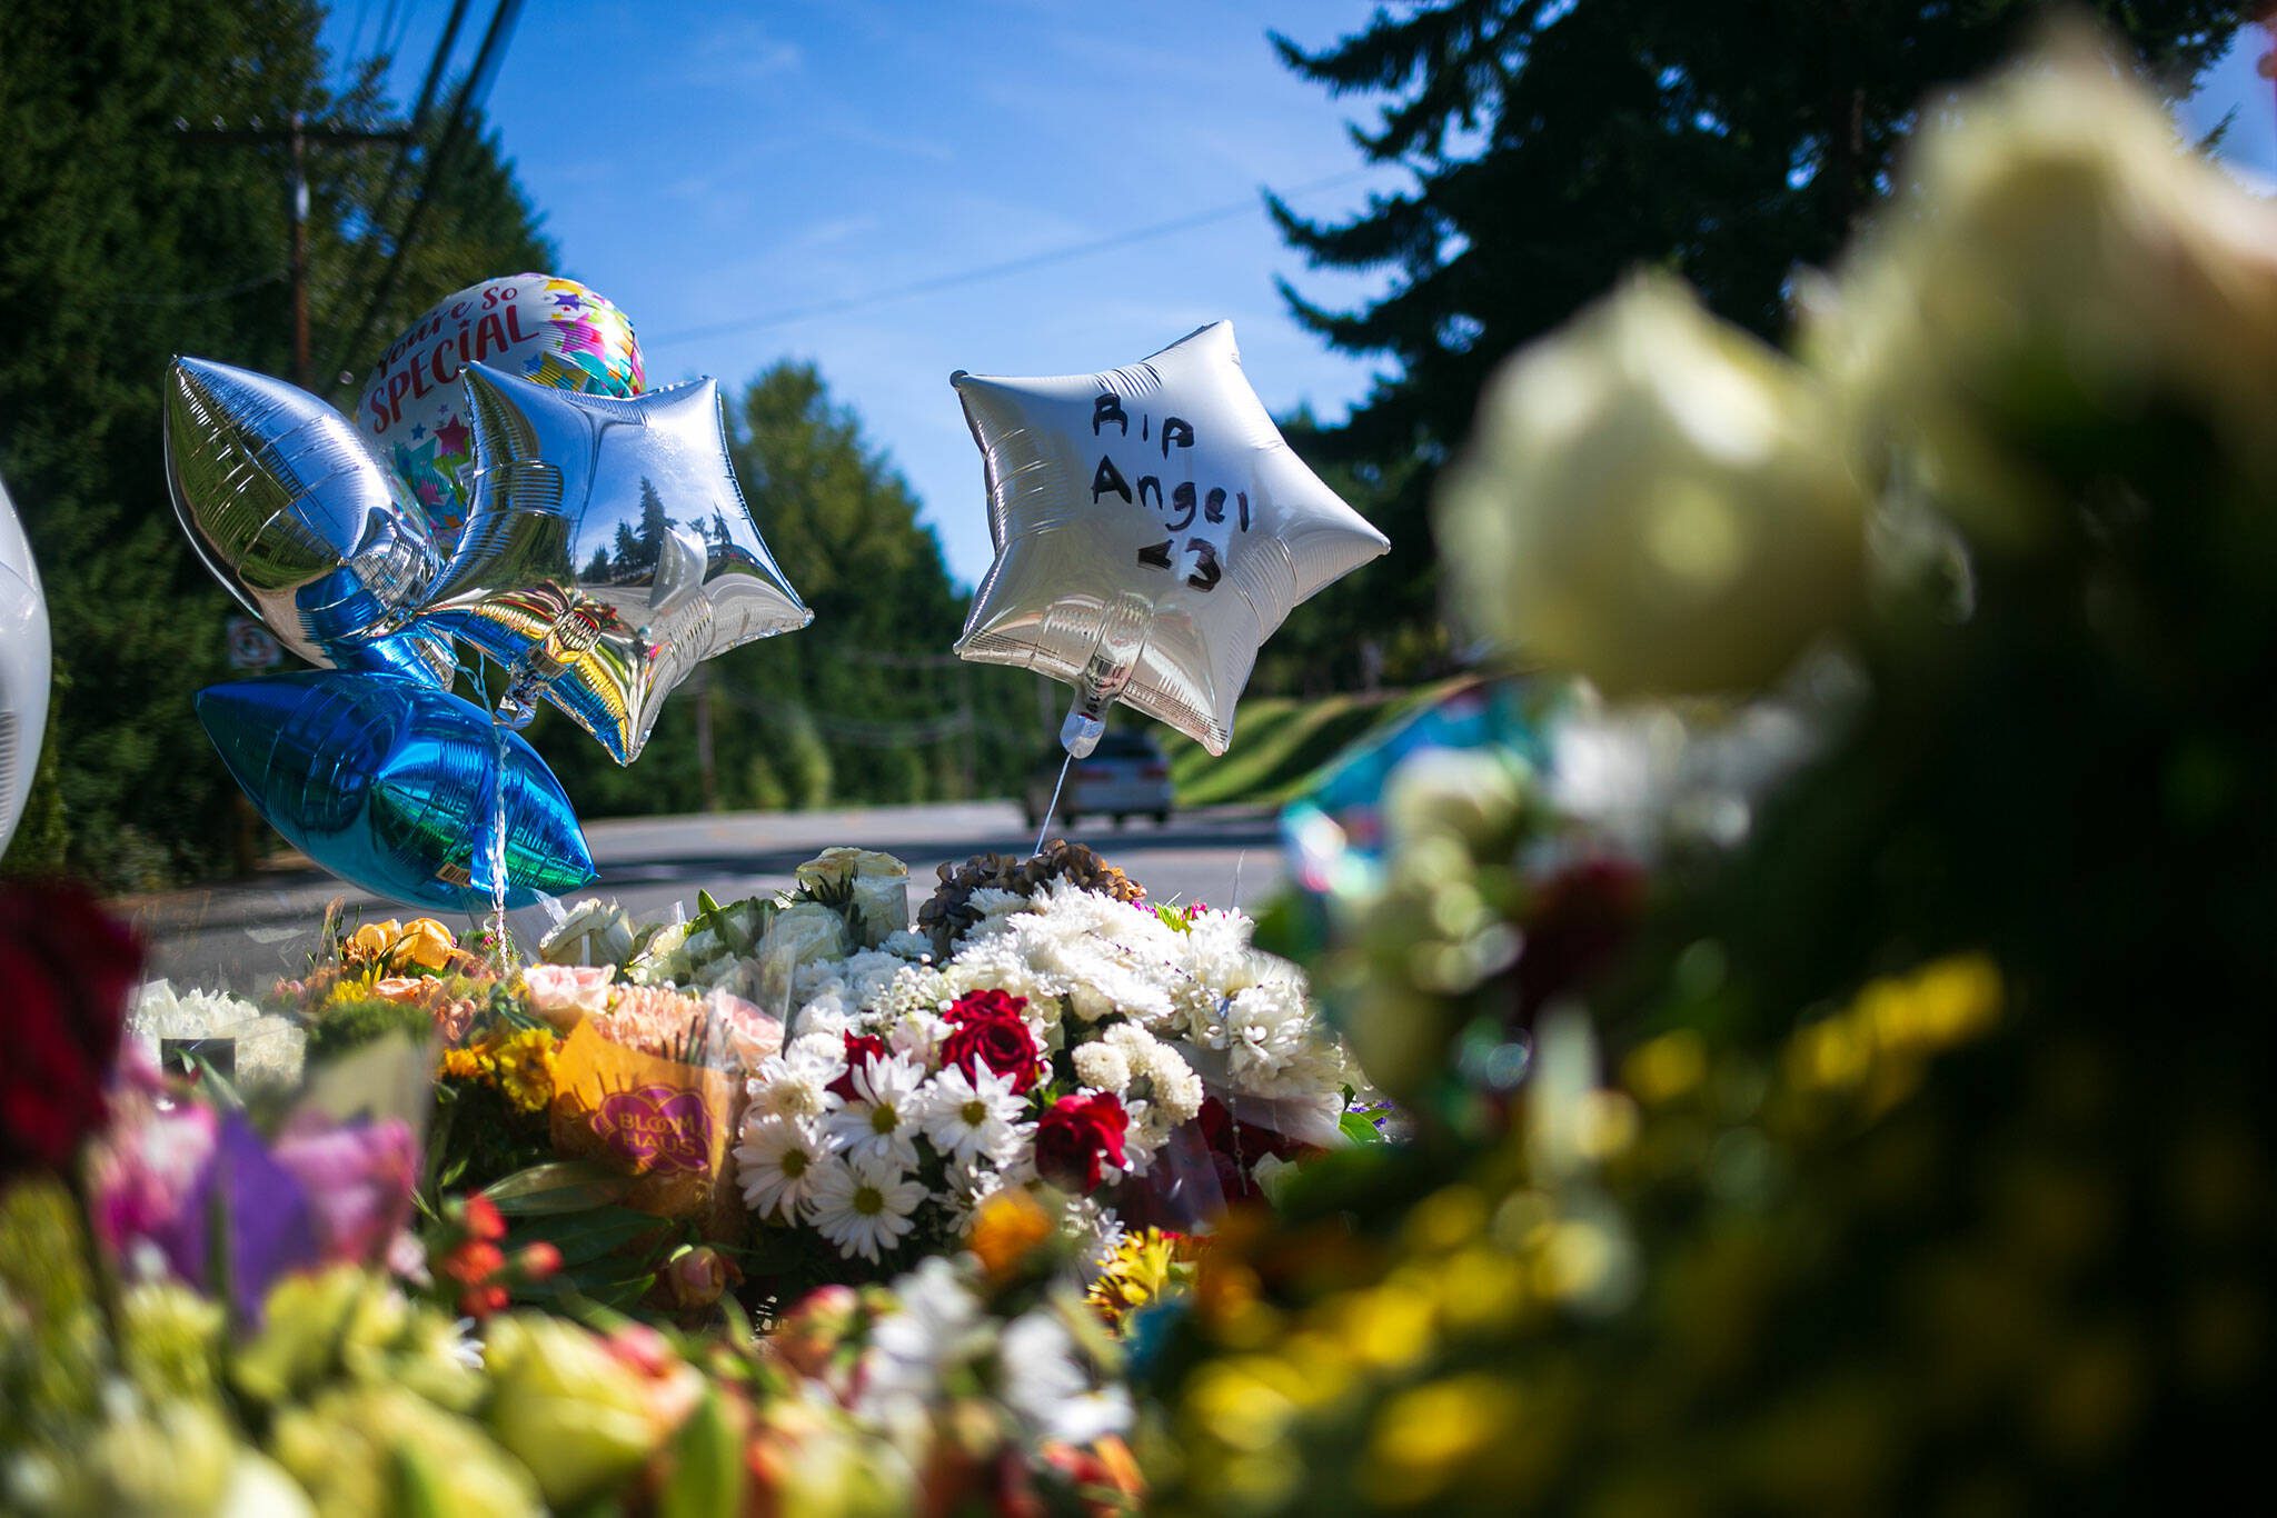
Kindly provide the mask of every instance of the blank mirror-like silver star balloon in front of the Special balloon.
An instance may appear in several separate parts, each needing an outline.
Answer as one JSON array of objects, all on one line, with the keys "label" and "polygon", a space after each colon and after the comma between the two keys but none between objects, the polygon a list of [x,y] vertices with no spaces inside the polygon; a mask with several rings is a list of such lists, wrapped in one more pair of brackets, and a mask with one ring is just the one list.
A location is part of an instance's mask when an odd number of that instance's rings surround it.
[{"label": "blank mirror-like silver star balloon in front of the Special balloon", "polygon": [[735,487],[713,380],[615,398],[467,364],[462,382],[467,530],[419,628],[505,665],[508,721],[542,694],[631,765],[690,669],[813,621]]}]

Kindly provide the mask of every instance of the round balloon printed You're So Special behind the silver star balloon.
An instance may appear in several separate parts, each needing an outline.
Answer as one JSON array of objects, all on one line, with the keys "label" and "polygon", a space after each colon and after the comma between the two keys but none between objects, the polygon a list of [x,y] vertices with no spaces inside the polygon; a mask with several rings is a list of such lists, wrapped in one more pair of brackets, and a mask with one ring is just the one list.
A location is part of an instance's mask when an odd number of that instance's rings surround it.
[{"label": "round balloon printed You're So Special behind the silver star balloon", "polygon": [[458,376],[474,362],[587,396],[649,387],[624,312],[549,273],[469,284],[405,328],[364,382],[355,423],[410,485],[444,558],[467,526],[474,423]]}]

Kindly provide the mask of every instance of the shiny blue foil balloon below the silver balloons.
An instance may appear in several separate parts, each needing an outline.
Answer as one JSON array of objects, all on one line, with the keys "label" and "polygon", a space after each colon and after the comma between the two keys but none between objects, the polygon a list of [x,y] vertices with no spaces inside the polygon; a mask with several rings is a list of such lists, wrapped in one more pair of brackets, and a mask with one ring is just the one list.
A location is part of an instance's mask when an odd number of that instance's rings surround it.
[{"label": "shiny blue foil balloon below the silver balloons", "polygon": [[[262,817],[376,897],[490,906],[505,762],[505,906],[592,878],[560,781],[469,701],[389,674],[305,669],[198,692],[198,721]],[[503,742],[496,742],[503,740]]]}]

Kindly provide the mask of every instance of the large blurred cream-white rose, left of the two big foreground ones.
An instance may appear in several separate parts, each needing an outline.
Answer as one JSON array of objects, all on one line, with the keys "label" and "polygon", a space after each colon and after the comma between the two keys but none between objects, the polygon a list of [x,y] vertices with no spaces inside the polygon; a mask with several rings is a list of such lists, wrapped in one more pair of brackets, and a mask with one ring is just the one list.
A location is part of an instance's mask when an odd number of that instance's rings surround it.
[{"label": "large blurred cream-white rose, left of the two big foreground ones", "polygon": [[1865,496],[1806,373],[1649,275],[1503,364],[1437,526],[1473,630],[1523,658],[1751,690],[1851,610]]}]

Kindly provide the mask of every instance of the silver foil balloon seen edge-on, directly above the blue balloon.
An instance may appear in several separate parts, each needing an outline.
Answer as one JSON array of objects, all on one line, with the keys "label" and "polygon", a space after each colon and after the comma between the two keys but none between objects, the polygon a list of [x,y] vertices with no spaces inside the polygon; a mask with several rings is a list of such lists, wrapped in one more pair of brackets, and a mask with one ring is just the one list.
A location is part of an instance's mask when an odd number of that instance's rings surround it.
[{"label": "silver foil balloon seen edge-on, directly above the blue balloon", "polygon": [[178,357],[166,487],[198,558],[280,644],[312,665],[449,685],[449,651],[403,635],[439,562],[426,512],[330,405]]}]

